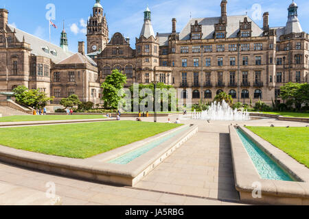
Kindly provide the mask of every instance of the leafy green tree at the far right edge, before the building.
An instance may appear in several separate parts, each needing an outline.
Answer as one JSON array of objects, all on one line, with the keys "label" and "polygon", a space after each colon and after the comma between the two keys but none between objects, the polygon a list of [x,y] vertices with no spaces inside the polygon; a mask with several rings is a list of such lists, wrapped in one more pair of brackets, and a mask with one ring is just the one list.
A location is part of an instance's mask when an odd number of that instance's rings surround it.
[{"label": "leafy green tree at the far right edge, before the building", "polygon": [[287,83],[281,87],[280,96],[294,103],[297,110],[302,104],[309,103],[309,83]]}]

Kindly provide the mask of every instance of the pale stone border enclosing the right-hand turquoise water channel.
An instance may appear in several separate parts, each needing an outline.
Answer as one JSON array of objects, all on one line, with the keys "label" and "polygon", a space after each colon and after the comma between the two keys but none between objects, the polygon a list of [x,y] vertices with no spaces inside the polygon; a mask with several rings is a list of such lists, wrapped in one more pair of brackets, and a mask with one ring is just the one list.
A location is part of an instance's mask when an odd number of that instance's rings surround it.
[{"label": "pale stone border enclosing the right-hand turquoise water channel", "polygon": [[[262,151],[298,181],[261,179],[236,128],[244,131]],[[240,192],[241,201],[269,205],[309,205],[309,169],[306,166],[299,164],[284,151],[277,149],[249,129],[229,126],[229,133],[236,190]],[[255,183],[262,185],[262,198],[253,198],[252,193],[257,189]]]}]

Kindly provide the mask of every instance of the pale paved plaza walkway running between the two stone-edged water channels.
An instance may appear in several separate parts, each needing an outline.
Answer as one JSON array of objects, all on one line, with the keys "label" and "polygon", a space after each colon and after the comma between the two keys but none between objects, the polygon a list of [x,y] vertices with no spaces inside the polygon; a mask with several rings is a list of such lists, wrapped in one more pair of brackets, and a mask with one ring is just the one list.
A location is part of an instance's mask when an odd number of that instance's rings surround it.
[{"label": "pale paved plaza walkway running between the two stone-edged water channels", "polygon": [[[174,121],[179,116],[170,116]],[[181,118],[181,116],[180,116]],[[159,122],[168,118],[159,117]],[[135,118],[124,118],[135,120]],[[153,118],[144,118],[152,121]],[[135,188],[69,179],[0,163],[0,183],[45,192],[46,183],[56,184],[62,205],[240,205],[235,189],[228,125],[181,118],[198,124],[196,136],[150,172]],[[306,123],[251,120],[233,125],[305,127]],[[3,194],[0,194],[0,199]]]}]

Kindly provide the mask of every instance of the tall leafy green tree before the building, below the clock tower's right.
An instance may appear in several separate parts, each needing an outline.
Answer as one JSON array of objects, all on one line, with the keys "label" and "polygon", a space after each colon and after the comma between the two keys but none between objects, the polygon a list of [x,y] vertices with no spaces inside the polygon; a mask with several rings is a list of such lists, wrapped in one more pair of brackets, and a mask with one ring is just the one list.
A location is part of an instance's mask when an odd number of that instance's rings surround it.
[{"label": "tall leafy green tree before the building, below the clock tower's right", "polygon": [[117,110],[119,101],[124,97],[119,96],[119,92],[124,88],[125,83],[126,75],[120,73],[117,69],[113,70],[113,73],[106,77],[105,82],[101,86],[104,107]]}]

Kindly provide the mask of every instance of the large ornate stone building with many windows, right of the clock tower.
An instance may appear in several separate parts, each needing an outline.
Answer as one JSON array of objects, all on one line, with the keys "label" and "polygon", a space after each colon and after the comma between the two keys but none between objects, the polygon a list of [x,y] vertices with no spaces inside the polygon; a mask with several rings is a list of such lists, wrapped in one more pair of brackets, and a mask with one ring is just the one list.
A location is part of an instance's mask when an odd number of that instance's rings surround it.
[{"label": "large ornate stone building with many windows, right of the clock tower", "polygon": [[259,27],[247,15],[227,16],[226,0],[220,5],[221,16],[192,18],[181,32],[172,18],[172,31],[157,35],[147,8],[135,50],[130,39],[117,33],[95,57],[100,81],[118,68],[128,76],[128,86],[156,80],[190,88],[194,103],[224,91],[237,101],[262,99],[268,104],[280,102],[279,88],[285,83],[308,82],[309,39],[297,18],[296,3],[288,7],[284,27],[269,27],[268,12]]}]

